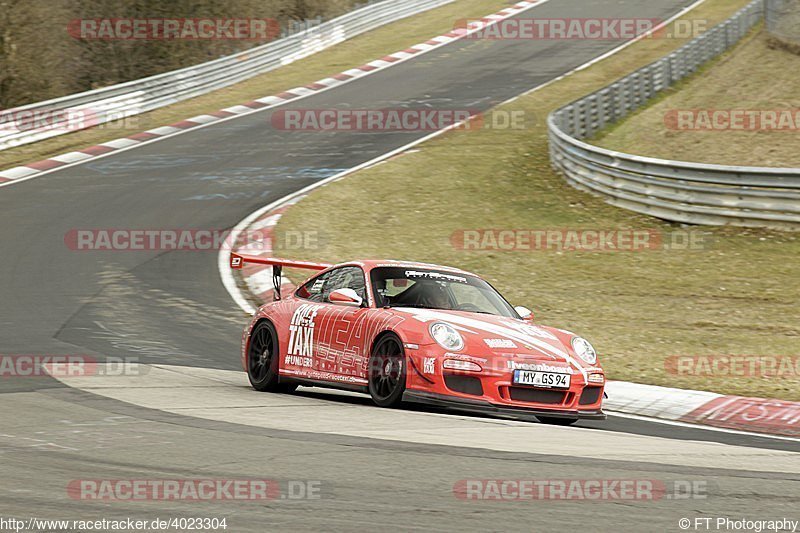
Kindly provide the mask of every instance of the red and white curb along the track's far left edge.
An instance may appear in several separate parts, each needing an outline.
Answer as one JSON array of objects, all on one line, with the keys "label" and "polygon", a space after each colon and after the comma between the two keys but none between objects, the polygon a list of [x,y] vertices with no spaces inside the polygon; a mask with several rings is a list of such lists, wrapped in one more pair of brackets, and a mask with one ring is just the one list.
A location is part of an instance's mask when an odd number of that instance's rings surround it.
[{"label": "red and white curb along the track's far left edge", "polygon": [[445,33],[444,35],[439,35],[429,39],[424,43],[416,44],[406,48],[405,50],[389,54],[380,59],[376,59],[375,61],[361,65],[360,67],[345,70],[344,72],[341,72],[335,76],[323,78],[303,87],[295,87],[294,89],[289,89],[288,91],[284,91],[276,95],[265,96],[244,104],[227,107],[213,113],[198,115],[196,117],[181,120],[180,122],[176,122],[168,126],[161,126],[159,128],[147,130],[135,135],[130,135],[128,137],[122,137],[95,146],[90,146],[75,152],[68,152],[66,154],[54,156],[49,159],[44,159],[42,161],[36,161],[34,163],[28,163],[26,165],[0,171],[0,184],[13,182],[20,179],[30,179],[44,172],[52,171],[65,166],[84,163],[90,159],[103,157],[118,150],[127,150],[150,141],[171,137],[195,128],[208,126],[220,120],[253,113],[256,111],[262,111],[266,108],[277,107],[287,102],[305,98],[333,87],[338,87],[339,85],[343,85],[355,79],[362,78],[403,61],[407,61],[426,52],[430,52],[431,50],[435,50],[441,46],[445,46],[453,41],[457,41],[472,33],[475,33],[476,31],[479,31],[481,28],[486,27],[486,25],[495,24],[501,20],[517,15],[527,9],[543,4],[547,1],[548,0],[526,0],[518,2],[511,7],[507,7],[501,11],[498,11],[497,13],[483,17],[482,19],[470,21],[470,23],[467,25],[467,28],[456,28],[453,31]]}]

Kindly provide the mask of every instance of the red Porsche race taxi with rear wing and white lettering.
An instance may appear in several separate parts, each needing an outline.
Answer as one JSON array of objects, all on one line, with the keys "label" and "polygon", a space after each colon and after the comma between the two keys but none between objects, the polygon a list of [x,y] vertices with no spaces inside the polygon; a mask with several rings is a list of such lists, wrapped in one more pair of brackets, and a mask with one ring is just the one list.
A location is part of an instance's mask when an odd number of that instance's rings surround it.
[{"label": "red Porsche race taxi with rear wing and white lettering", "polygon": [[[475,274],[231,254],[231,268],[245,263],[271,265],[275,280],[275,301],[242,337],[256,390],[327,386],[368,393],[381,407],[423,402],[562,425],[605,418],[605,374],[592,345],[534,324]],[[319,272],[281,297],[285,267]]]}]

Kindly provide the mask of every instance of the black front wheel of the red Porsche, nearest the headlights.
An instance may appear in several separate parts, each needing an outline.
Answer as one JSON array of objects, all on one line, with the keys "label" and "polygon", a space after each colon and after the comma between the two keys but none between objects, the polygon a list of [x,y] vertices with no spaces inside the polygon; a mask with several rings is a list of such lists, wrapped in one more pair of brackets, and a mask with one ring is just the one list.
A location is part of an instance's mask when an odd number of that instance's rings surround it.
[{"label": "black front wheel of the red Porsche, nearest the headlights", "polygon": [[378,407],[397,407],[406,390],[403,343],[394,334],[378,339],[369,358],[369,395]]}]

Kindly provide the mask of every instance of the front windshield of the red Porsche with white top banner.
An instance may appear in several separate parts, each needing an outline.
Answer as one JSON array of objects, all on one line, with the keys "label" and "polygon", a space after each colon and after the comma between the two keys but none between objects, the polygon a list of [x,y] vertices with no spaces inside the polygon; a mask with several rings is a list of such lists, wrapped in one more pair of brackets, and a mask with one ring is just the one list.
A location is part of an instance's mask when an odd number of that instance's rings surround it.
[{"label": "front windshield of the red Porsche with white top banner", "polygon": [[519,318],[482,279],[441,270],[378,267],[372,270],[377,307],[422,307]]}]

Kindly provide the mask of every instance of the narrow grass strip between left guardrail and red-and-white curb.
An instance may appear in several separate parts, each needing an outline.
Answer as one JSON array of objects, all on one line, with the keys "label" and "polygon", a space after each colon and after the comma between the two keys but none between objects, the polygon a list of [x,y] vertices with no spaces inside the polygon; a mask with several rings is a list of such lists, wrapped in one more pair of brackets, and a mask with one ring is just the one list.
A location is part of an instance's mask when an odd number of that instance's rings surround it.
[{"label": "narrow grass strip between left guardrail and red-and-white curb", "polygon": [[0,169],[80,150],[195,115],[307,85],[383,55],[403,50],[436,35],[447,33],[459,19],[479,18],[495,13],[508,5],[507,0],[457,0],[452,4],[359,35],[328,50],[219,91],[130,117],[124,121],[109,122],[69,135],[0,151]]}]

